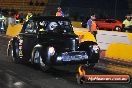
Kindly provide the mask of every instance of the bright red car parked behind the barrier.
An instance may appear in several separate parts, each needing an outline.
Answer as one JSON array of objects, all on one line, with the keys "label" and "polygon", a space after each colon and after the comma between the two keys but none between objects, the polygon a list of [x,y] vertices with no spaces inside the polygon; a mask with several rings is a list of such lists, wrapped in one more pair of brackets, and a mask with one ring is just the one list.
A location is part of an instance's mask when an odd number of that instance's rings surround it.
[{"label": "bright red car parked behind the barrier", "polygon": [[97,28],[112,31],[122,31],[122,22],[115,19],[96,19]]}]

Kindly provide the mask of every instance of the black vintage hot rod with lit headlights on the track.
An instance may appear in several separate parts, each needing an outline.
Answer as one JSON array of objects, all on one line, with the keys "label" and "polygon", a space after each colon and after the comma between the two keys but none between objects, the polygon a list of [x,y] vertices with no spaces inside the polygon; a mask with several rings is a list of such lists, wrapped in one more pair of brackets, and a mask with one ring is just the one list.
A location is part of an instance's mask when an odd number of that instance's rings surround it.
[{"label": "black vintage hot rod with lit headlights on the track", "polygon": [[79,43],[69,18],[55,16],[34,17],[23,24],[21,33],[8,44],[12,61],[39,64],[43,71],[65,64],[89,64],[99,60],[97,43]]}]

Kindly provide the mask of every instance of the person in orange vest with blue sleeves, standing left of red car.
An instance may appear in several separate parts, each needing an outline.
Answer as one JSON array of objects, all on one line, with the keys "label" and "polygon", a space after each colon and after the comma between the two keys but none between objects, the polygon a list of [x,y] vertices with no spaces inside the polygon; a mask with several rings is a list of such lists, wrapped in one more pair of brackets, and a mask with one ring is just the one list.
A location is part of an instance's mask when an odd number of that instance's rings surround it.
[{"label": "person in orange vest with blue sleeves, standing left of red car", "polygon": [[96,28],[95,19],[96,19],[95,15],[92,14],[91,18],[87,21],[87,26],[89,28],[89,31],[94,35],[96,39],[97,28]]}]

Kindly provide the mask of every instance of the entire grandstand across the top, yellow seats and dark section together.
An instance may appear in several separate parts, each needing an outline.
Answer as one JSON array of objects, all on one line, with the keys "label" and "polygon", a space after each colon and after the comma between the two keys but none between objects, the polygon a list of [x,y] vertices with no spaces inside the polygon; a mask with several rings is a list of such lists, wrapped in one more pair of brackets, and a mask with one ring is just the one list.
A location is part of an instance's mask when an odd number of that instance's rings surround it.
[{"label": "entire grandstand across the top, yellow seats and dark section together", "polygon": [[126,14],[132,13],[132,0],[0,0],[1,9],[14,9],[23,14],[55,15],[58,6],[65,15],[79,19],[96,13],[98,18],[123,20]]}]

